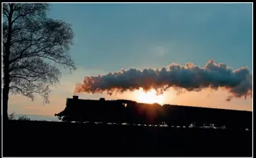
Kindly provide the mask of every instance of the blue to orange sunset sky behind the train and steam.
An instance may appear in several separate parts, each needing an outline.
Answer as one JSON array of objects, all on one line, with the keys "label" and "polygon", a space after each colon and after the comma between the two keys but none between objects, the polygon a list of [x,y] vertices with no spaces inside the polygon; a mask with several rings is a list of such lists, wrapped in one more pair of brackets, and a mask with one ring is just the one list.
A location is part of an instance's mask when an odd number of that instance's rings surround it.
[{"label": "blue to orange sunset sky behind the train and steam", "polygon": [[[162,68],[187,62],[205,66],[210,59],[233,69],[248,66],[252,73],[252,4],[50,4],[49,17],[72,24],[74,45],[69,51],[77,70],[62,70],[52,87],[50,104],[21,95],[9,96],[9,112],[54,115],[84,76],[128,68]],[[226,102],[223,90],[177,95],[168,90],[164,103],[252,110],[252,99]],[[134,93],[79,94],[83,99],[130,99]]]}]

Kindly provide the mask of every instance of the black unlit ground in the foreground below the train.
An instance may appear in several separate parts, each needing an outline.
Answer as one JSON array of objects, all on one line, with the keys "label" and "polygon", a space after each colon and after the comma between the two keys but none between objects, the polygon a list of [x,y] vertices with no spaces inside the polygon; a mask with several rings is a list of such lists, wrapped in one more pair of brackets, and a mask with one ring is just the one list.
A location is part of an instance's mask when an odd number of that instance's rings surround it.
[{"label": "black unlit ground in the foreground below the train", "polygon": [[9,121],[4,157],[252,157],[252,131]]}]

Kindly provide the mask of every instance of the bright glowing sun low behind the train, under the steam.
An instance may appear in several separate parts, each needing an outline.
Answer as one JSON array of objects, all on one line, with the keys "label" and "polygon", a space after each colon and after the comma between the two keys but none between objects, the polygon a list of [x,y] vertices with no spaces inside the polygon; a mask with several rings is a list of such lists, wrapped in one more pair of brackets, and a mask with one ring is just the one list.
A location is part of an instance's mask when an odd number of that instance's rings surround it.
[{"label": "bright glowing sun low behind the train, under the steam", "polygon": [[143,91],[143,89],[137,90],[134,92],[135,97],[139,102],[144,103],[158,103],[162,105],[164,103],[164,96],[163,95],[157,95],[156,90],[149,90],[147,93]]}]

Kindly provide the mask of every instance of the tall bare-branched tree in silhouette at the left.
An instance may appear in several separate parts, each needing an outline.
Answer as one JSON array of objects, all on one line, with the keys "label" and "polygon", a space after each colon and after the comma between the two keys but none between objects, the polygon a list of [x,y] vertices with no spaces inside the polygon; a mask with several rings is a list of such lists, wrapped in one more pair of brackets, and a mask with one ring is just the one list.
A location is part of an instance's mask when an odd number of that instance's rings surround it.
[{"label": "tall bare-branched tree in silhouette at the left", "polygon": [[9,93],[49,103],[49,86],[59,83],[60,68],[76,70],[69,56],[71,25],[46,16],[48,4],[3,4],[3,115],[8,120]]}]

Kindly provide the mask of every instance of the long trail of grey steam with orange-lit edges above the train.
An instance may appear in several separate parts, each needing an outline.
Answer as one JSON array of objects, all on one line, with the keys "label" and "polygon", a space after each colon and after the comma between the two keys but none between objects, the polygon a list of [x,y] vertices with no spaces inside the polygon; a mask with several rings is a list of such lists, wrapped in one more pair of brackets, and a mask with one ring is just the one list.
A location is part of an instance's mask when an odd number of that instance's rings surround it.
[{"label": "long trail of grey steam with orange-lit edges above the train", "polygon": [[84,78],[83,84],[77,84],[75,93],[124,93],[143,88],[144,91],[154,89],[158,94],[168,88],[176,90],[200,91],[204,88],[218,90],[225,88],[230,93],[227,101],[232,98],[250,96],[252,98],[252,74],[247,67],[232,70],[225,63],[214,60],[204,67],[185,63],[172,63],[166,68],[137,70],[121,70],[107,75]]}]

